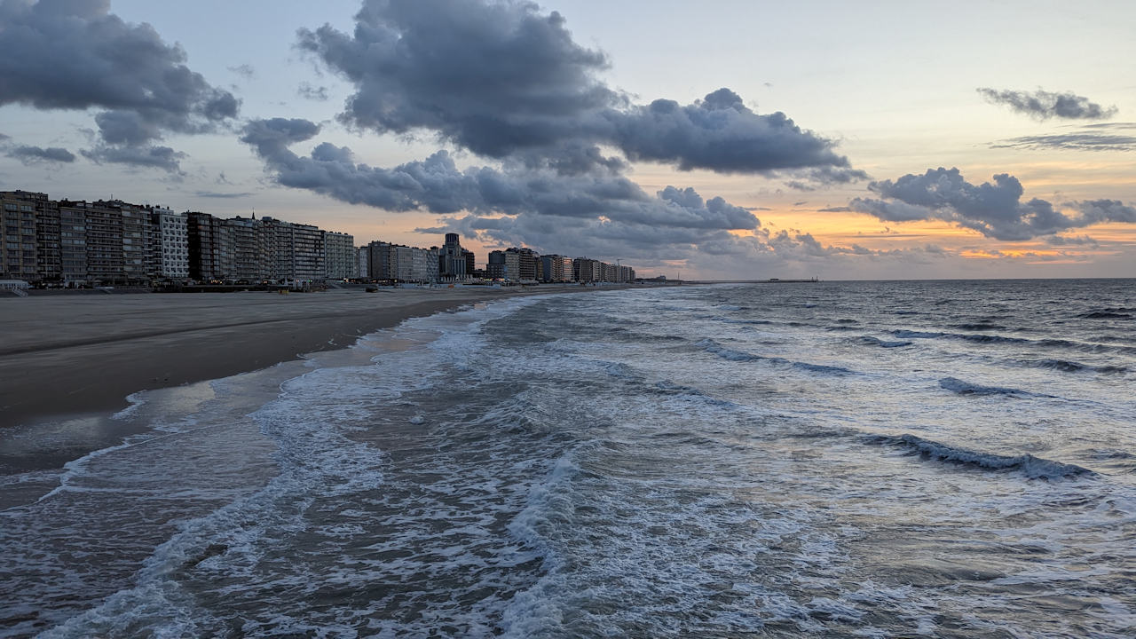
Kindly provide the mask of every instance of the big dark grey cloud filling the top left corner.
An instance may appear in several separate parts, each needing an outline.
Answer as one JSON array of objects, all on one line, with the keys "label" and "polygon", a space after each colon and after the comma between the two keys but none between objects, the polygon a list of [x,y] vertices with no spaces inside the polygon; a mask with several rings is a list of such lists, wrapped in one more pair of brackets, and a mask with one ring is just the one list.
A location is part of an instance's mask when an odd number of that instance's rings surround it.
[{"label": "big dark grey cloud filling the top left corner", "polygon": [[[137,147],[95,155],[152,159],[154,147],[143,144],[211,132],[237,115],[237,99],[185,66],[181,47],[123,22],[107,0],[3,0],[0,51],[0,105],[105,109],[95,115],[102,143]],[[160,166],[150,159],[142,166]]]}]

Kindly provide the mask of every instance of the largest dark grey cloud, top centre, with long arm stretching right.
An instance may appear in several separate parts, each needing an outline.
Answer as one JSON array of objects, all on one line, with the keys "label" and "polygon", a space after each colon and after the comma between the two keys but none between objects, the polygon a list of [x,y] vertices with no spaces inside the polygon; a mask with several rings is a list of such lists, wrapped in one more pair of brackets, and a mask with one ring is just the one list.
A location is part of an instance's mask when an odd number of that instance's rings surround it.
[{"label": "largest dark grey cloud, top centre, with long arm stretching right", "polygon": [[[607,57],[531,2],[368,0],[345,34],[301,30],[300,47],[354,84],[341,119],[379,133],[433,132],[475,153],[579,172],[599,151],[680,169],[847,169],[835,143],[720,89],[691,105],[634,105],[598,74]],[[602,158],[610,159],[610,158]],[[580,165],[583,160],[583,165]]]}]

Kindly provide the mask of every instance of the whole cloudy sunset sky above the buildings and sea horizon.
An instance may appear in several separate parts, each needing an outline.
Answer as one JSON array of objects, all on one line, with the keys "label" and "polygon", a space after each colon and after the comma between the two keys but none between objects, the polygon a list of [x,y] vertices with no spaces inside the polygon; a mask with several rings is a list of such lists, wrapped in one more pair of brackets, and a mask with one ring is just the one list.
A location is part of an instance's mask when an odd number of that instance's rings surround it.
[{"label": "whole cloudy sunset sky above the buildings and sea horizon", "polygon": [[1136,277],[1136,3],[0,0],[0,190],[685,279]]}]

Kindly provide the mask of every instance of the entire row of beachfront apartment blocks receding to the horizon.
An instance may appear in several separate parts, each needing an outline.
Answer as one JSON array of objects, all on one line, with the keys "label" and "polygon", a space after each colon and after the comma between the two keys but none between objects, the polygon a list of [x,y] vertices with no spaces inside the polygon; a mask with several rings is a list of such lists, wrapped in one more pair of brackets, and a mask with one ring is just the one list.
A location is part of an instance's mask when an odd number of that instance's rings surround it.
[{"label": "entire row of beachfront apartment blocks receding to the horizon", "polygon": [[149,285],[160,281],[630,282],[635,271],[586,257],[496,250],[484,271],[448,233],[441,248],[375,241],[273,217],[220,218],[122,200],[52,200],[0,191],[0,280],[61,285]]}]

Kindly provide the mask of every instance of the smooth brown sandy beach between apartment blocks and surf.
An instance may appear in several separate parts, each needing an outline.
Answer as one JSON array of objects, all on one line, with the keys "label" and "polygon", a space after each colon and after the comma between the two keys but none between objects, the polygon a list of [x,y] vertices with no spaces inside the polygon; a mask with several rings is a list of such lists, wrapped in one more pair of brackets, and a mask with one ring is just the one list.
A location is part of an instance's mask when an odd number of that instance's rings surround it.
[{"label": "smooth brown sandy beach between apartment blocks and surf", "polygon": [[[562,290],[562,289],[557,289]],[[0,299],[0,424],[125,408],[126,397],[344,348],[463,304],[552,289],[64,296]]]}]

